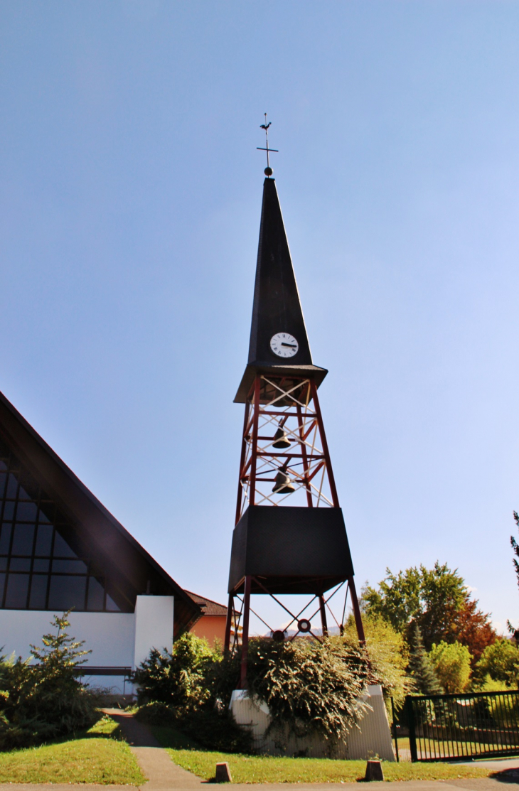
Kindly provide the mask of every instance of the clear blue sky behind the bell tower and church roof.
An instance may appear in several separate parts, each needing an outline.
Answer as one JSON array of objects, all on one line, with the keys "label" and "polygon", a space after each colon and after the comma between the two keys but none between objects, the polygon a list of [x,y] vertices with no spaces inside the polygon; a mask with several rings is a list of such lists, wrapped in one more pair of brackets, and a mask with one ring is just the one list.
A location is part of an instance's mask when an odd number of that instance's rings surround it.
[{"label": "clear blue sky behind the bell tower and church roof", "polygon": [[0,389],[225,601],[263,112],[358,583],[517,623],[516,2],[0,2]]}]

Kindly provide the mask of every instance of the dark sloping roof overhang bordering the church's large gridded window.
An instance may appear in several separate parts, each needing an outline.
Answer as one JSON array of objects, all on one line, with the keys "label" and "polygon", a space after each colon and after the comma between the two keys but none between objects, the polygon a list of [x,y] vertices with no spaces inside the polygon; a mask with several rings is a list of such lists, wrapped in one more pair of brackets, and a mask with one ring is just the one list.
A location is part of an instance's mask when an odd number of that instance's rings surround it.
[{"label": "dark sloping roof overhang bordering the church's large gridded window", "polygon": [[200,618],[198,604],[94,497],[2,393],[0,438],[63,510],[78,543],[95,558],[122,600],[134,607],[140,594],[174,596],[175,637]]}]

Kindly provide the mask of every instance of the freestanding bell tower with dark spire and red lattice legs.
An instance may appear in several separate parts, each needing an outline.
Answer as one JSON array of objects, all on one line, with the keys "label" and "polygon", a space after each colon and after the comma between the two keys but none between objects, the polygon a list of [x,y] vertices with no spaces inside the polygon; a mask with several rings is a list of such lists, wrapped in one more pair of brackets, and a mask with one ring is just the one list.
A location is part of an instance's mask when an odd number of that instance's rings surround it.
[{"label": "freestanding bell tower with dark spire and red lattice legs", "polygon": [[[350,595],[358,638],[364,642],[350,547],[317,396],[328,372],[313,365],[268,162],[265,173],[248,364],[234,399],[244,404],[244,424],[225,650],[241,651],[242,689],[247,687],[252,600],[255,614],[267,626],[260,615],[265,596],[290,615],[285,630],[271,629],[273,639],[290,639],[294,633],[321,639],[311,621],[318,617],[320,633],[328,634],[329,601],[341,589],[344,608]],[[282,600],[292,594],[301,595],[302,601],[302,609],[294,613]],[[340,623],[335,620],[341,632],[343,617],[344,610]]]}]

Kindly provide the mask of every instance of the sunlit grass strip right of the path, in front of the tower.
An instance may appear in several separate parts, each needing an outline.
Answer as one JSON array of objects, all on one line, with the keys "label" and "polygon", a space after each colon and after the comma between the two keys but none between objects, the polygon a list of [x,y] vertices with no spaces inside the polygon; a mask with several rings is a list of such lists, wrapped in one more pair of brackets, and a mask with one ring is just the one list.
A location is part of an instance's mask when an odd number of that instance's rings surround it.
[{"label": "sunlit grass strip right of the path, in front of the tower", "polygon": [[[324,783],[357,782],[364,778],[366,761],[321,758],[277,758],[269,755],[237,755],[201,749],[193,740],[169,728],[153,728],[174,763],[210,780],[217,763],[227,761],[235,783]],[[386,780],[447,780],[484,778],[491,770],[484,766],[456,766],[447,763],[384,763]]]}]

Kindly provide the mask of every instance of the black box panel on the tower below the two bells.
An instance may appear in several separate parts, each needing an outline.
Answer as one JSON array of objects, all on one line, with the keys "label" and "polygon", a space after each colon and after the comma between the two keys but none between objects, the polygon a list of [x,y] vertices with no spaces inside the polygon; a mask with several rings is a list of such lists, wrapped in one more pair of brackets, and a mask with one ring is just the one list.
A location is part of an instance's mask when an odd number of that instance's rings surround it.
[{"label": "black box panel on the tower below the two bells", "polygon": [[353,573],[340,508],[249,505],[234,528],[229,593],[251,574],[252,593],[319,595]]}]

